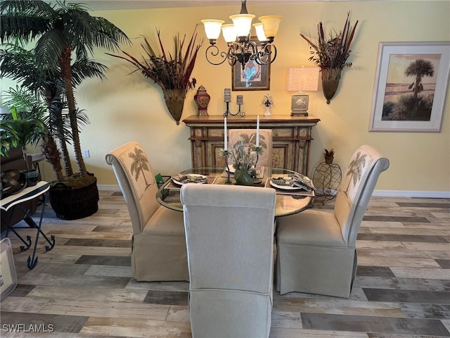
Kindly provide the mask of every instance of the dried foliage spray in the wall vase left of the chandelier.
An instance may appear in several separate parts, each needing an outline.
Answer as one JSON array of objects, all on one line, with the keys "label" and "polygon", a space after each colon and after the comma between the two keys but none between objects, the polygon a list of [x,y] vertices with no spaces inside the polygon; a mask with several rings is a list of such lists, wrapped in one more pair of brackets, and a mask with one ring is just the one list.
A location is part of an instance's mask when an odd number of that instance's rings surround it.
[{"label": "dried foliage spray in the wall vase left of the chandelier", "polygon": [[203,44],[203,39],[197,42],[197,33],[193,32],[189,40],[186,51],[183,51],[186,43],[186,35],[181,39],[179,33],[174,37],[174,54],[167,53],[161,41],[160,30],[156,30],[160,45],[160,54],[157,55],[155,50],[148,42],[146,37],[141,36],[143,44],[141,44],[146,56],[139,61],[131,54],[122,50],[127,57],[108,54],[116,58],[122,58],[141,70],[145,77],[155,81],[162,89],[183,89],[186,93],[188,89],[195,87],[197,82],[195,78],[191,79],[191,74],[195,65],[198,50]]}]

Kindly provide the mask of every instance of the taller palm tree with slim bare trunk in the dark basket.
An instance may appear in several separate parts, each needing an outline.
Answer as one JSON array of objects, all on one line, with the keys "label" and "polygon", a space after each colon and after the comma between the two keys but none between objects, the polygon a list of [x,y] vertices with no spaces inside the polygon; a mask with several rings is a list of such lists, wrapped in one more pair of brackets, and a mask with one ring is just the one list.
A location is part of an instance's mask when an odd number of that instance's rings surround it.
[{"label": "taller palm tree with slim bare trunk in the dark basket", "polygon": [[[64,177],[65,185],[71,187],[96,184],[96,178],[87,173],[82,158],[77,119],[79,110],[75,104],[74,88],[85,77],[103,76],[106,67],[100,63],[97,63],[96,70],[84,68],[96,47],[114,51],[119,49],[121,43],[129,43],[122,30],[105,18],[90,15],[88,11],[89,8],[82,4],[66,4],[63,1],[57,1],[54,5],[42,0],[6,0],[0,3],[1,43],[34,43],[34,64],[39,70],[34,74],[37,81],[33,83],[32,79],[28,79],[30,82],[27,82],[27,76],[20,73],[22,68],[15,73],[16,80],[23,80],[26,87],[35,85],[34,91],[43,89],[42,84],[51,83],[49,87],[44,86],[44,95],[49,94],[47,102],[53,103],[55,108],[58,108],[58,104],[54,104],[58,100],[67,102],[71,143],[79,170],[78,174]],[[72,63],[72,58],[75,63]],[[74,70],[78,66],[81,67],[80,73]],[[60,92],[59,81],[63,83]],[[51,146],[54,152],[56,144]],[[66,171],[70,174],[70,170]],[[96,185],[95,190],[98,196]]]}]

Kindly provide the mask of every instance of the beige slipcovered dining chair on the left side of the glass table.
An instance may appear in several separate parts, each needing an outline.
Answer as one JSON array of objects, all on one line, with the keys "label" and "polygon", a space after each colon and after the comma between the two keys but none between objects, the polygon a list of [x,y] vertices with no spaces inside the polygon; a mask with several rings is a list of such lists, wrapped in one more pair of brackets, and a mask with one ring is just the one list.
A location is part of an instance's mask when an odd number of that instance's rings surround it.
[{"label": "beige slipcovered dining chair on the left side of the glass table", "polygon": [[160,206],[146,152],[129,142],[106,155],[124,196],[131,224],[131,268],[139,281],[188,280],[183,213]]}]

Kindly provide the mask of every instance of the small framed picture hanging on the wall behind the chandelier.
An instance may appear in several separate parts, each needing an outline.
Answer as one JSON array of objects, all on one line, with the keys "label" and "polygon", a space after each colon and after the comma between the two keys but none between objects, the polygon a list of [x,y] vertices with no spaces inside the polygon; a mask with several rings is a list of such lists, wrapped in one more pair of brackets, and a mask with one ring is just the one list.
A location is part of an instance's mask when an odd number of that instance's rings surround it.
[{"label": "small framed picture hanging on the wall behind the chandelier", "polygon": [[[256,37],[251,37],[250,41],[256,42],[258,48],[261,43]],[[270,61],[270,58],[269,60]],[[248,78],[247,78],[248,77]],[[259,65],[256,61],[248,61],[244,70],[240,62],[236,62],[231,68],[231,90],[269,90],[270,89],[270,63]]]}]

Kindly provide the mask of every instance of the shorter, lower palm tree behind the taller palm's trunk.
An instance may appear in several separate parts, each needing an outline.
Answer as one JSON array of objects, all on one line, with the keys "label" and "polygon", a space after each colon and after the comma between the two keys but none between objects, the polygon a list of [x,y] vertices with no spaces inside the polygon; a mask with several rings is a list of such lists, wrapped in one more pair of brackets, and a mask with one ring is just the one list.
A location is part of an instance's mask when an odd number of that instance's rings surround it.
[{"label": "shorter, lower palm tree behind the taller palm's trunk", "polygon": [[[56,180],[63,182],[65,177],[73,175],[68,151],[68,144],[72,143],[72,131],[68,118],[63,114],[63,108],[67,108],[63,78],[58,73],[39,67],[34,49],[28,51],[20,46],[8,44],[4,49],[0,49],[0,56],[2,58],[0,77],[9,77],[21,83],[16,89],[6,90],[4,104],[17,108],[19,115],[25,115],[23,118],[44,118],[46,115],[44,120],[49,135],[43,144],[43,153],[46,161],[51,163]],[[85,59],[75,61],[72,65],[74,87],[85,77],[98,77],[104,80],[105,68],[96,61]],[[77,109],[76,116],[79,126],[89,123],[83,111]],[[63,166],[60,164],[61,160]]]}]

